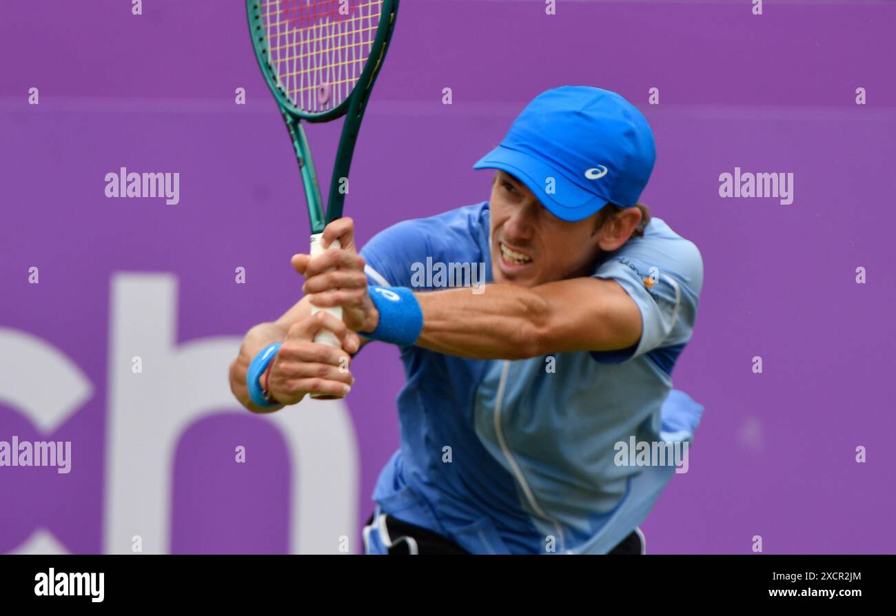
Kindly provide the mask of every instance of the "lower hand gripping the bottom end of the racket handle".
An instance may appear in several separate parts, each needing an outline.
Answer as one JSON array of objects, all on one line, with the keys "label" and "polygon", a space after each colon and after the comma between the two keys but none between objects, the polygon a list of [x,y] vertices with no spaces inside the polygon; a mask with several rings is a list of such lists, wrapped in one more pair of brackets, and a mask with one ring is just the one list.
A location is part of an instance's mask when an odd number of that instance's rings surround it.
[{"label": "lower hand gripping the bottom end of the racket handle", "polygon": [[[320,329],[331,330],[342,348],[315,344],[314,334]],[[359,347],[358,334],[345,323],[328,312],[317,312],[289,328],[271,364],[268,391],[282,405],[296,404],[306,394],[341,398],[355,381],[349,372],[349,353],[356,353]]]}]

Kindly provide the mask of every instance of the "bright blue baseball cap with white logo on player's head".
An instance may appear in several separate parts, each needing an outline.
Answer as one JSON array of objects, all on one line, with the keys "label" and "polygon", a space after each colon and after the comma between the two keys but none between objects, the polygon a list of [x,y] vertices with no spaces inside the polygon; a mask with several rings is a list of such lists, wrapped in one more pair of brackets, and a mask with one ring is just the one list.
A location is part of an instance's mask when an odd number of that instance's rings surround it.
[{"label": "bright blue baseball cap with white logo on player's head", "polygon": [[557,218],[575,221],[607,203],[636,205],[656,158],[650,124],[625,98],[563,86],[532,100],[473,168],[514,175]]}]

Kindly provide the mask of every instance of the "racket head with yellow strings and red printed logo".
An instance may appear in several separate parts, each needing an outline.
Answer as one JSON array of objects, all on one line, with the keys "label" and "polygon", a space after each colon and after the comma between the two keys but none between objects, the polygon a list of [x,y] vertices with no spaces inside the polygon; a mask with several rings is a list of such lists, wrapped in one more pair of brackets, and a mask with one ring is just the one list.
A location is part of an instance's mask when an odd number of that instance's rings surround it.
[{"label": "racket head with yellow strings and red printed logo", "polygon": [[356,90],[373,84],[397,4],[246,0],[255,57],[280,108],[308,122],[344,116]]}]

